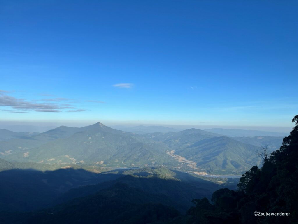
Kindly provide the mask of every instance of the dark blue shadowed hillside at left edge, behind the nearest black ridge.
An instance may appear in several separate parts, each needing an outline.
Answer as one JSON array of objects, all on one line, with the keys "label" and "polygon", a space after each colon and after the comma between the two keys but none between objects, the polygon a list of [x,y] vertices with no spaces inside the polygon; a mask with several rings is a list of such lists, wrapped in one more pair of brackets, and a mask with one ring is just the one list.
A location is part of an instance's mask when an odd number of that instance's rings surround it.
[{"label": "dark blue shadowed hillside at left edge, behind the nearest black ridge", "polygon": [[1,171],[0,211],[44,208],[71,188],[100,182],[96,176],[95,173],[73,169]]}]

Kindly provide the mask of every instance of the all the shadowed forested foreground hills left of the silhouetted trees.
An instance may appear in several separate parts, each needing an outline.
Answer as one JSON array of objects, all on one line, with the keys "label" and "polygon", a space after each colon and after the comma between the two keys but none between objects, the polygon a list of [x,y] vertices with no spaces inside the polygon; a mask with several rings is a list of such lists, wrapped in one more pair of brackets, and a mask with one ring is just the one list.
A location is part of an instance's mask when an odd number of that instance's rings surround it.
[{"label": "all the shadowed forested foreground hills left of the silhouetted trees", "polygon": [[102,174],[12,170],[0,178],[0,223],[172,223],[193,198],[211,199],[222,186],[162,166]]}]

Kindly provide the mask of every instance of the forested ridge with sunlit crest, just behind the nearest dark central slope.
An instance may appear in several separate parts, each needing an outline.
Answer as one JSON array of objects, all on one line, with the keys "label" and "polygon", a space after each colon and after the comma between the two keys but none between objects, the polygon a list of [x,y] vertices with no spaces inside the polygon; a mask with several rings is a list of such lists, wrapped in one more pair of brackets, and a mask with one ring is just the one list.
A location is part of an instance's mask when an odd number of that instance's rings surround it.
[{"label": "forested ridge with sunlit crest, just behind the nearest dark central slope", "polygon": [[[107,174],[101,174],[99,178]],[[115,174],[114,174],[115,175]],[[118,171],[119,178],[97,185],[73,188],[61,197],[60,202],[66,202],[75,197],[86,197],[101,189],[117,183],[125,184],[144,191],[145,193],[164,195],[169,204],[181,212],[185,212],[191,205],[193,198],[211,198],[212,192],[218,190],[221,184],[193,177],[182,172],[173,172],[165,167],[140,168]],[[122,176],[120,176],[122,175]]]}]

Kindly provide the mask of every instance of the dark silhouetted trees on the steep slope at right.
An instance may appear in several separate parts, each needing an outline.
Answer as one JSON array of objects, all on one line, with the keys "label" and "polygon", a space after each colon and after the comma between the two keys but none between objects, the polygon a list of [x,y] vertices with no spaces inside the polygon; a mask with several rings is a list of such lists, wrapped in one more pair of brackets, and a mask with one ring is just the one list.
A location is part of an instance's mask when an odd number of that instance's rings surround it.
[{"label": "dark silhouetted trees on the steep slope at right", "polygon": [[[295,127],[280,149],[264,159],[262,168],[253,166],[243,174],[239,191],[215,191],[213,205],[196,200],[189,210],[190,223],[214,223],[216,219],[217,223],[298,223],[298,115],[292,122]],[[254,211],[290,216],[254,216]]]}]

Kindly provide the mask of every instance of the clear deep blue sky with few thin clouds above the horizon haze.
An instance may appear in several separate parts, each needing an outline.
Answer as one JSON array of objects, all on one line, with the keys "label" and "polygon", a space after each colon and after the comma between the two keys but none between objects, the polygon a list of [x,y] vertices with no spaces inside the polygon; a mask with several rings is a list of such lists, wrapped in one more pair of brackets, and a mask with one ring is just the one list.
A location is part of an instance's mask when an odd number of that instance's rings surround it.
[{"label": "clear deep blue sky with few thin clouds above the horizon haze", "polygon": [[292,126],[297,9],[2,0],[0,120]]}]

